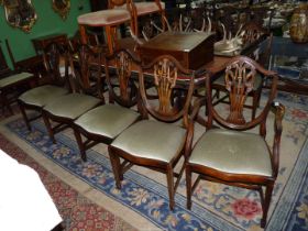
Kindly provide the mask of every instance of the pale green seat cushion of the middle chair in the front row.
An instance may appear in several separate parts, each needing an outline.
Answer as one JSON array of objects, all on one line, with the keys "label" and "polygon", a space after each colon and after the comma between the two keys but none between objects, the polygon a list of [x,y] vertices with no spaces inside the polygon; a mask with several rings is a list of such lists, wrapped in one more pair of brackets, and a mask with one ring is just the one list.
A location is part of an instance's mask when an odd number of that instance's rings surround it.
[{"label": "pale green seat cushion of the middle chair in the front row", "polygon": [[114,139],[139,118],[139,113],[116,105],[103,105],[82,114],[75,121],[92,134]]}]

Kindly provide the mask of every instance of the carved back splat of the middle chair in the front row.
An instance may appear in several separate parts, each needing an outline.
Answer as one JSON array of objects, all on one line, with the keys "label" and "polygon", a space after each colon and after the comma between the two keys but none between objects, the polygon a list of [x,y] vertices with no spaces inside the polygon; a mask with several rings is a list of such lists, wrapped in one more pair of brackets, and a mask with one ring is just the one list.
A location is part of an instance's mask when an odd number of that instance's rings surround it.
[{"label": "carved back splat of the middle chair in the front row", "polygon": [[130,98],[128,86],[132,73],[132,59],[127,53],[121,52],[117,55],[116,63],[120,84],[120,95],[122,99],[128,100]]}]

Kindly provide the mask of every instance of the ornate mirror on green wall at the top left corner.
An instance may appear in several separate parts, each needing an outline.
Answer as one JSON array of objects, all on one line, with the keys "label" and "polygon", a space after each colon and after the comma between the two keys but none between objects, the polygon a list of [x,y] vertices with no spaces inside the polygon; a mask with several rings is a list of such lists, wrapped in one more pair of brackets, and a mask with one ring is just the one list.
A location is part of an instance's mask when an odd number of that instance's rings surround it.
[{"label": "ornate mirror on green wall at the top left corner", "polygon": [[[0,0],[1,1],[1,0]],[[30,32],[37,15],[31,0],[2,0],[7,22],[13,28]]]}]

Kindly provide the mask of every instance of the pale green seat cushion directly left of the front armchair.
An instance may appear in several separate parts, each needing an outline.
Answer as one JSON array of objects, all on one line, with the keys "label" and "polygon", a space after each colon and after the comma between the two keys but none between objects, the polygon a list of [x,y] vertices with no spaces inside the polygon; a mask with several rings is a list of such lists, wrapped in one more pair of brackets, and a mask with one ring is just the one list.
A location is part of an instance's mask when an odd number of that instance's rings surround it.
[{"label": "pale green seat cushion directly left of the front armchair", "polygon": [[186,130],[173,124],[142,120],[124,130],[112,143],[131,155],[168,163],[178,154],[186,139]]}]

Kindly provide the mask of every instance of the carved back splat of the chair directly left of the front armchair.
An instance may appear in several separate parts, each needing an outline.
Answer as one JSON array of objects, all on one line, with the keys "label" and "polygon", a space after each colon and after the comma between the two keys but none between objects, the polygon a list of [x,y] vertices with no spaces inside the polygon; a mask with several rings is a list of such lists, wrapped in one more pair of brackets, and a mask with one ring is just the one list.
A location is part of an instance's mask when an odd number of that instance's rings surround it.
[{"label": "carved back splat of the chair directly left of the front armchair", "polygon": [[168,114],[173,111],[170,96],[177,79],[176,66],[168,58],[160,61],[154,66],[154,79],[158,91],[158,110],[163,114]]}]

